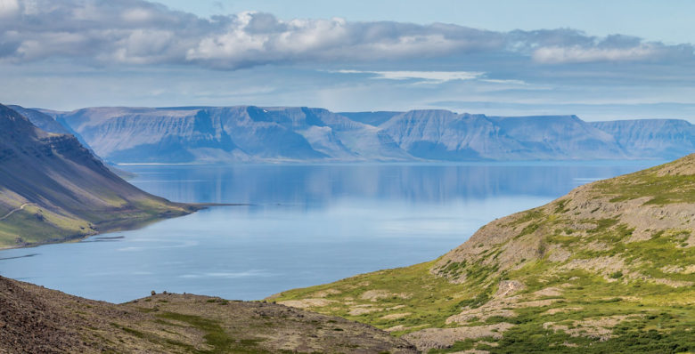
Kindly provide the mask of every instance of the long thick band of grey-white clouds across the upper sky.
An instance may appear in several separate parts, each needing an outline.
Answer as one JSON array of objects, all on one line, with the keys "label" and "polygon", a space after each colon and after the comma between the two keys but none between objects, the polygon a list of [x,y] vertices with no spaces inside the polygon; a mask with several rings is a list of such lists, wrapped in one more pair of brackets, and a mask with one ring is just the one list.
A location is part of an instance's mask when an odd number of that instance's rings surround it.
[{"label": "long thick band of grey-white clouds across the upper sky", "polygon": [[236,69],[274,63],[466,61],[486,55],[540,64],[693,56],[690,44],[645,43],[630,36],[597,38],[567,28],[494,32],[439,23],[279,20],[258,12],[200,18],[144,0],[0,0],[0,19],[4,62],[67,58],[89,65]]}]

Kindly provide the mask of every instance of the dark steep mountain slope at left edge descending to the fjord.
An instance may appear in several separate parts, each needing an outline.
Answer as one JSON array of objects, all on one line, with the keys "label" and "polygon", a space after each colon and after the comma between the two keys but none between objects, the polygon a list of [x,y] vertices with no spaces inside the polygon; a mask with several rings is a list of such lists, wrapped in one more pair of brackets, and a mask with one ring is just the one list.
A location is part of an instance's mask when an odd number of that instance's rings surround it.
[{"label": "dark steep mountain slope at left edge descending to the fjord", "polygon": [[84,237],[196,209],[135,188],[74,136],[47,133],[0,105],[0,247]]}]

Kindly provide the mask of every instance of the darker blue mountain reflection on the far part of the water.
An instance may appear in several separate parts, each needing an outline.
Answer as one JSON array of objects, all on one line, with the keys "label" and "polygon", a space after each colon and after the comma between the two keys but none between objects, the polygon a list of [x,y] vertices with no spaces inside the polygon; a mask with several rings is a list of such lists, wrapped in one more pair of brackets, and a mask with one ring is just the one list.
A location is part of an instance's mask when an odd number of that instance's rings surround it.
[{"label": "darker blue mountain reflection on the far part of the water", "polygon": [[130,165],[132,182],[171,200],[324,207],[343,197],[447,203],[509,195],[559,197],[656,162],[535,165]]}]

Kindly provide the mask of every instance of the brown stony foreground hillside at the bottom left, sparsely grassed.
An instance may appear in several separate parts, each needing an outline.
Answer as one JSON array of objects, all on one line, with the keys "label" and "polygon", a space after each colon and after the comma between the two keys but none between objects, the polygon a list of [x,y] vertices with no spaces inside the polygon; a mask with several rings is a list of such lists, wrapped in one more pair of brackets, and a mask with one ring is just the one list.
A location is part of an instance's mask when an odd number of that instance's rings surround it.
[{"label": "brown stony foreground hillside at the bottom left, sparsely grassed", "polygon": [[0,353],[415,352],[343,318],[192,294],[116,305],[0,277],[0,311]]}]

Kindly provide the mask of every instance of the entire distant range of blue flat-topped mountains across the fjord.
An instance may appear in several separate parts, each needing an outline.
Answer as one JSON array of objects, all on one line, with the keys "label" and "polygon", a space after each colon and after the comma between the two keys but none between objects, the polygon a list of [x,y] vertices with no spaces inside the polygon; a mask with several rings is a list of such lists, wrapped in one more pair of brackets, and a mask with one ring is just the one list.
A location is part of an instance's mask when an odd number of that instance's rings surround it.
[{"label": "entire distant range of blue flat-topped mountains across the fjord", "polygon": [[75,134],[114,163],[672,159],[695,151],[695,127],[673,119],[585,122],[439,109],[13,108],[48,131]]}]

